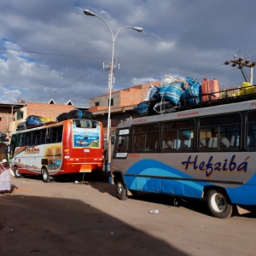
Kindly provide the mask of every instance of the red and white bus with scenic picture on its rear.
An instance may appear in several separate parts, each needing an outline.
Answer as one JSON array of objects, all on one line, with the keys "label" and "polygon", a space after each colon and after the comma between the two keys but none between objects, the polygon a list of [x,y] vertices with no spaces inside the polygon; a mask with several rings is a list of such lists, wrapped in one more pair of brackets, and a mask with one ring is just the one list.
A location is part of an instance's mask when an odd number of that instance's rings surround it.
[{"label": "red and white bus with scenic picture on its rear", "polygon": [[91,119],[67,119],[16,131],[11,138],[15,177],[52,177],[79,172],[102,172],[104,137],[102,123]]}]

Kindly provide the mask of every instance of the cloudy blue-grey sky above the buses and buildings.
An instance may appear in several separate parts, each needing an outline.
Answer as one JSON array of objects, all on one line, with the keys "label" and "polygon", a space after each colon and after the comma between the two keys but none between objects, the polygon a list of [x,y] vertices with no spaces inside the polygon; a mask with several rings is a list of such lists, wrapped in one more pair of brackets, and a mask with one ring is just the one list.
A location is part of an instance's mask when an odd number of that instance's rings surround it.
[{"label": "cloudy blue-grey sky above the buses and buildings", "polygon": [[255,0],[1,0],[0,102],[89,106],[91,97],[108,93],[102,63],[111,58],[113,39],[84,9],[106,20],[113,35],[143,27],[116,37],[114,91],[166,74],[237,86],[241,70],[224,61],[256,60]]}]

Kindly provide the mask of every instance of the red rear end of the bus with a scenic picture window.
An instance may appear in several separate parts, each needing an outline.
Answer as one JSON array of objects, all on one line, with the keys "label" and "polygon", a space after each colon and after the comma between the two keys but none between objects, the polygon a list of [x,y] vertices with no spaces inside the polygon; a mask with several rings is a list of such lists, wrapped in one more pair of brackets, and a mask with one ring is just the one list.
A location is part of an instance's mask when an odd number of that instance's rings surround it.
[{"label": "red rear end of the bus with a scenic picture window", "polygon": [[87,119],[73,119],[70,122],[72,124],[67,125],[67,132],[63,136],[65,172],[102,172],[102,123]]}]

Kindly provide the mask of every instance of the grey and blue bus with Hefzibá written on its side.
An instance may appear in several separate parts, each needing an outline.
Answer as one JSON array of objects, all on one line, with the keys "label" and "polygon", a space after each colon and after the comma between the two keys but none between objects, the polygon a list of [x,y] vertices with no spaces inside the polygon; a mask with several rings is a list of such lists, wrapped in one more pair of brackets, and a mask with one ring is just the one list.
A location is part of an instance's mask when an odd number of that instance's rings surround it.
[{"label": "grey and blue bus with Hefzib\u00e1 written on its side", "polygon": [[117,197],[125,200],[143,191],[207,199],[210,212],[218,218],[249,212],[256,206],[256,100],[252,98],[235,97],[213,107],[120,123],[110,165]]}]

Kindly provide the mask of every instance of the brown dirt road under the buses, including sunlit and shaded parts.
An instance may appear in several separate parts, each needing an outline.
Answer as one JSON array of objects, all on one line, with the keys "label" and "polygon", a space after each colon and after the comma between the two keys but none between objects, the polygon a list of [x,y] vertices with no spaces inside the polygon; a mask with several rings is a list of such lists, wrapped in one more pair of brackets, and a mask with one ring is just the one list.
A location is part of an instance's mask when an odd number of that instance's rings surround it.
[{"label": "brown dirt road under the buses, including sunlit and shaded parts", "polygon": [[256,253],[252,215],[212,218],[202,203],[173,207],[166,196],[119,201],[104,180],[43,183],[25,177],[12,183],[12,194],[0,197],[1,256]]}]

